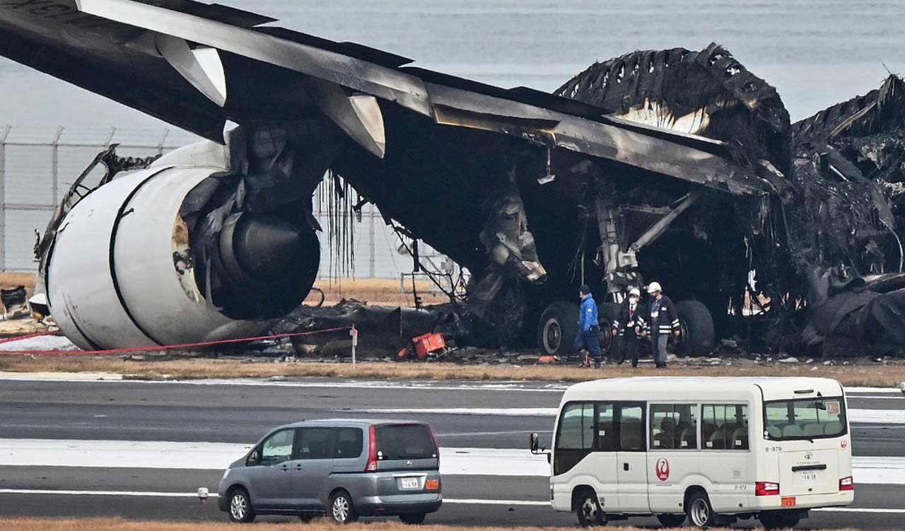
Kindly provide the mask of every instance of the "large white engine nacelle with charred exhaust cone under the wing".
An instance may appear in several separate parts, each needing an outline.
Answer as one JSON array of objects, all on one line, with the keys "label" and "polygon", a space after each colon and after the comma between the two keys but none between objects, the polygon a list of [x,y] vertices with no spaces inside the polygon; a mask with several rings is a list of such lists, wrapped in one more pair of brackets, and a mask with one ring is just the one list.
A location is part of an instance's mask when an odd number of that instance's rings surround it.
[{"label": "large white engine nacelle with charred exhaust cone under the wing", "polygon": [[[162,346],[254,336],[271,324],[262,316],[228,317],[205,297],[203,268],[212,266],[195,260],[180,209],[196,185],[223,171],[155,165],[100,186],[72,207],[46,262],[47,299],[66,337],[91,350]],[[273,216],[237,218],[228,231],[234,242],[217,246],[226,255],[214,251],[216,267],[260,280],[271,292],[291,286],[288,299],[300,304],[310,283],[300,286],[308,279],[293,278],[298,268],[291,263],[313,261],[317,269],[313,232]],[[248,282],[236,287],[247,288]],[[277,313],[285,307],[283,301]]]}]

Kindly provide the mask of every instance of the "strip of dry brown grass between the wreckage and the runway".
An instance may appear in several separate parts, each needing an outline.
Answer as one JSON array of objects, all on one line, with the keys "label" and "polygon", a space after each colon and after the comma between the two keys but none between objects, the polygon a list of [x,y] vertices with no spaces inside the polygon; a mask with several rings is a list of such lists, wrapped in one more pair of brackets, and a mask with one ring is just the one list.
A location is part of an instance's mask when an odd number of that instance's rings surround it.
[{"label": "strip of dry brown grass between the wreckage and the runway", "polygon": [[583,382],[618,376],[821,376],[846,386],[895,387],[905,381],[905,365],[707,365],[673,364],[667,370],[633,369],[626,365],[597,370],[567,365],[458,365],[453,363],[350,363],[263,362],[185,359],[128,361],[100,357],[0,356],[0,371],[113,373],[132,379],[267,378],[270,376],[322,376],[405,380],[521,380]]}]

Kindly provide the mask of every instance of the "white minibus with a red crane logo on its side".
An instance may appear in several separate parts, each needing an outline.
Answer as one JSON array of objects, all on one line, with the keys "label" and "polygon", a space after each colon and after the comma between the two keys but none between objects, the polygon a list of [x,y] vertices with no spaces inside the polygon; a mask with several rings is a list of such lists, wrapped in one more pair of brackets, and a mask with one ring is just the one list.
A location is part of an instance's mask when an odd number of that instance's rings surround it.
[{"label": "white minibus with a red crane logo on its side", "polygon": [[[795,526],[854,499],[839,382],[637,377],[569,387],[548,454],[550,503],[582,526],[630,516],[663,526],[757,518]],[[531,434],[531,450],[538,437]]]}]

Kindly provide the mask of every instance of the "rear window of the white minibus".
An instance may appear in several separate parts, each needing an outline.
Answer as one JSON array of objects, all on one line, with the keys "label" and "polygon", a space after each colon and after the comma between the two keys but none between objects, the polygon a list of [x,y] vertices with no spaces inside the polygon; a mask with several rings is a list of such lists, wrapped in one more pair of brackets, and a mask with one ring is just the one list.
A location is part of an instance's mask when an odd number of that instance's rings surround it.
[{"label": "rear window of the white minibus", "polygon": [[767,402],[764,425],[772,441],[839,437],[846,431],[845,401],[834,396]]}]

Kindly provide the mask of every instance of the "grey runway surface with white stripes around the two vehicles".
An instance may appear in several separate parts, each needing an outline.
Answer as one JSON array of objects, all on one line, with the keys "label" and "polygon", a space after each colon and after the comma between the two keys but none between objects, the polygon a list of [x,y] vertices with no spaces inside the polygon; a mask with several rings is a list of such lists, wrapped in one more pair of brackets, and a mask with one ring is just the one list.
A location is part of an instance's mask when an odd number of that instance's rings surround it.
[{"label": "grey runway surface with white stripes around the two vehicles", "polygon": [[[430,522],[572,526],[574,516],[548,507],[546,461],[525,450],[531,431],[549,440],[564,388],[0,380],[0,516],[224,521],[215,498],[195,493],[215,492],[224,463],[265,431],[301,419],[380,417],[422,420],[437,431],[444,504]],[[905,397],[849,391],[849,409],[855,503],[813,511],[799,527],[901,528]],[[657,526],[653,518],[627,523]]]}]

